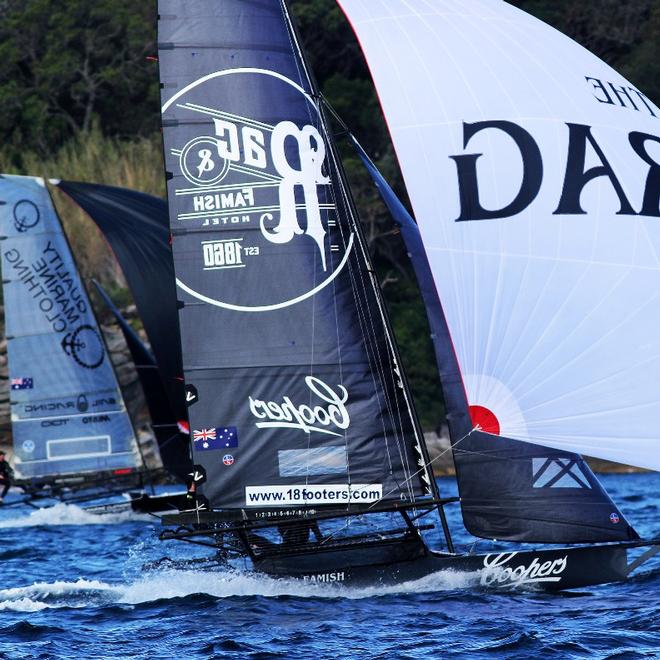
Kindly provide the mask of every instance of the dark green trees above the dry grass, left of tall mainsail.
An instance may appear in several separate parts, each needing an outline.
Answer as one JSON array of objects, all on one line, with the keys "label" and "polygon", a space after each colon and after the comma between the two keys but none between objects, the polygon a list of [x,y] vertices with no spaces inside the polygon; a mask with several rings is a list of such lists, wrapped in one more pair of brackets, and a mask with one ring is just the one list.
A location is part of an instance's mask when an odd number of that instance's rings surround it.
[{"label": "dark green trees above the dry grass, left of tall mainsail", "polygon": [[4,0],[0,135],[5,158],[46,156],[95,120],[111,135],[158,126],[155,2]]}]

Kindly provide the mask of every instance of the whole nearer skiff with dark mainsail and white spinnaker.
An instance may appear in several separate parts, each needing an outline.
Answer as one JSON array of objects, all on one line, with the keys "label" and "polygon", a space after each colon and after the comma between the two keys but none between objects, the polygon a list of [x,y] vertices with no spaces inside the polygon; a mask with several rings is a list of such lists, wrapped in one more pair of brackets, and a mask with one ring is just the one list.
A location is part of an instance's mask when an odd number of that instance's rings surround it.
[{"label": "whole nearer skiff with dark mainsail and white spinnaker", "polygon": [[505,3],[339,4],[416,216],[367,161],[424,293],[465,526],[533,549],[453,546],[332,119],[281,0],[159,2],[196,495],[161,536],[319,581],[623,580],[658,541],[581,454],[660,467],[660,110]]}]

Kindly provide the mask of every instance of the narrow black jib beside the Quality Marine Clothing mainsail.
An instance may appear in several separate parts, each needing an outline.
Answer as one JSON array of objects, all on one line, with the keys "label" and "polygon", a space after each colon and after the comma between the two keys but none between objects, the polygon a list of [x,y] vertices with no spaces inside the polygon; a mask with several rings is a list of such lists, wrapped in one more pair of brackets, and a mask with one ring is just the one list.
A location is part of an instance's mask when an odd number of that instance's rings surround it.
[{"label": "narrow black jib beside the Quality Marine Clothing mainsail", "polygon": [[176,418],[169,403],[156,358],[122,316],[107,291],[98,282],[94,281],[94,284],[119,324],[126,345],[131,352],[149,408],[151,427],[156,436],[163,467],[170,474],[185,482],[192,470],[188,434],[184,435],[180,430],[181,420]]}]

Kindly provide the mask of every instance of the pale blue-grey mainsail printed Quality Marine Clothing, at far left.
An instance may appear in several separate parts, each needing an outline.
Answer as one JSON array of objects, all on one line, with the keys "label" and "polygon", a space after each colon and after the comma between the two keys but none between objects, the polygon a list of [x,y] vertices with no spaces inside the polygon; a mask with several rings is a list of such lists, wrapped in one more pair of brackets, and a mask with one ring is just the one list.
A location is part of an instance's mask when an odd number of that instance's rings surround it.
[{"label": "pale blue-grey mainsail printed Quality Marine Clothing, at far left", "polygon": [[137,467],[133,427],[42,179],[0,177],[0,233],[19,476]]}]

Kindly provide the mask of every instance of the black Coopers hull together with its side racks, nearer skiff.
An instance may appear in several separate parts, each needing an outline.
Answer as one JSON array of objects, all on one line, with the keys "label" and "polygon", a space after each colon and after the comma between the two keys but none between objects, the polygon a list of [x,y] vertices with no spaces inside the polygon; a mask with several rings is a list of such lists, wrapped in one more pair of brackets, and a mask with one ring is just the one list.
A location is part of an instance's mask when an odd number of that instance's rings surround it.
[{"label": "black Coopers hull together with its side racks, nearer skiff", "polygon": [[[324,535],[317,523],[364,513],[330,513],[307,520],[262,522],[235,520],[213,511],[186,511],[163,517],[165,525],[171,528],[178,524],[178,527],[164,531],[160,538],[213,548],[216,550],[213,559],[224,561],[225,566],[228,559],[249,558],[256,572],[277,578],[387,586],[434,573],[453,572],[464,574],[467,588],[547,592],[623,581],[631,571],[660,552],[660,539],[652,539],[480,555],[441,553],[430,550],[420,534],[432,527],[420,524],[425,512],[413,519],[409,508],[413,506],[379,510],[398,511],[406,523],[404,528],[366,533],[355,530],[346,536]],[[274,526],[280,535],[279,543],[273,543],[262,533]],[[646,548],[646,551],[629,564],[628,550],[633,548]]]}]

